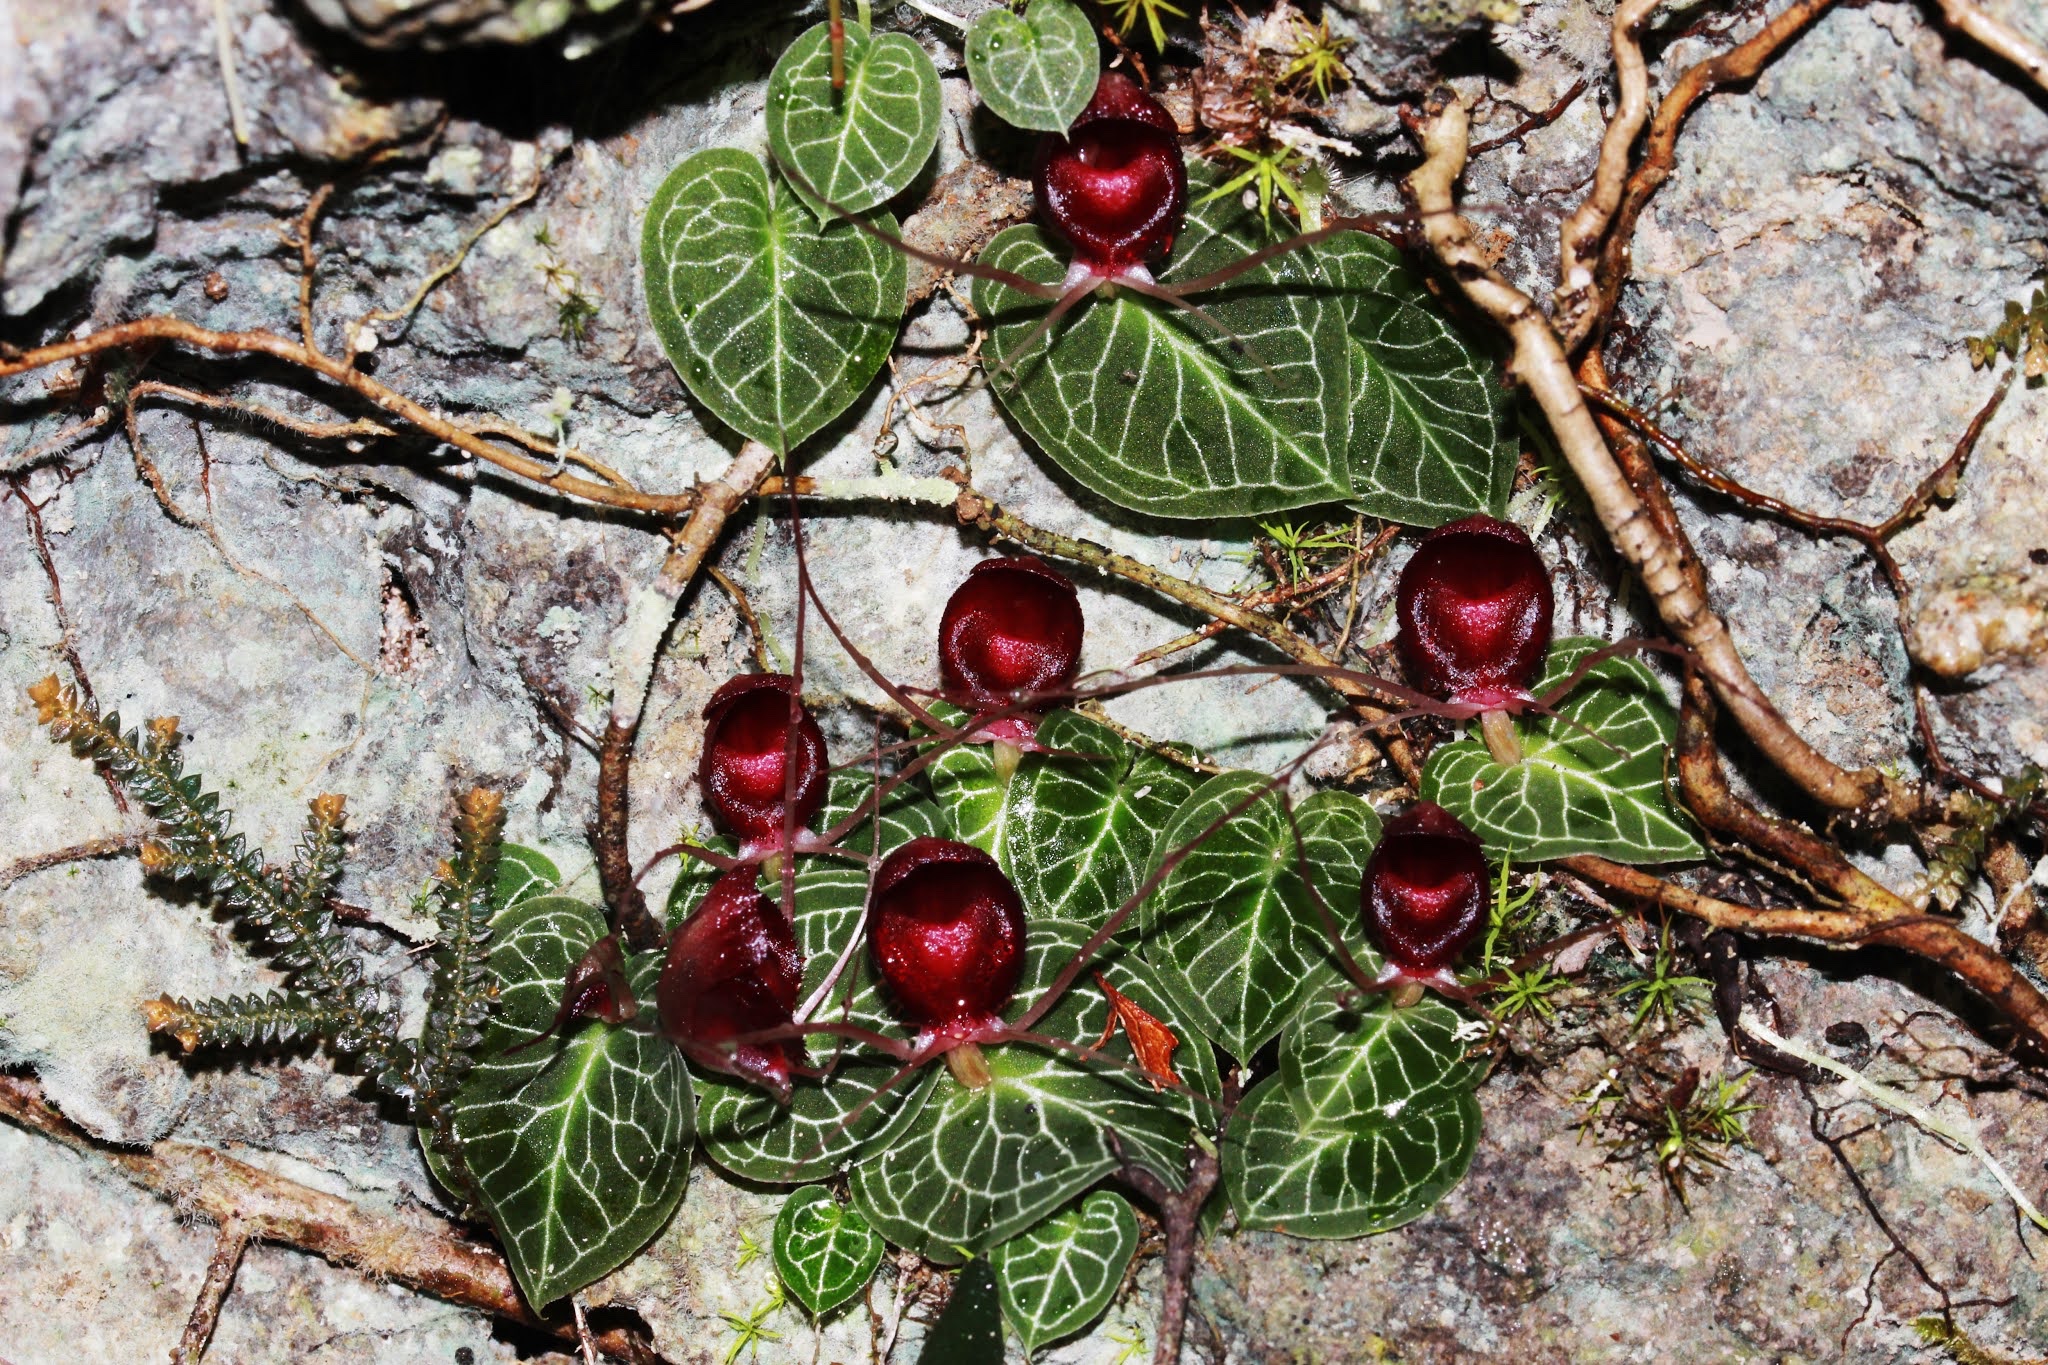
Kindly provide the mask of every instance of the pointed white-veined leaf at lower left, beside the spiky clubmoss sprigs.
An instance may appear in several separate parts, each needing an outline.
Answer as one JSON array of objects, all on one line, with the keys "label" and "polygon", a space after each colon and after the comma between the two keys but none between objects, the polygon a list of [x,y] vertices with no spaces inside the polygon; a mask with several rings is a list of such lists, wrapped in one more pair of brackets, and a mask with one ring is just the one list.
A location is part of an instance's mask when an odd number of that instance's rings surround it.
[{"label": "pointed white-veined leaf at lower left, beside the spiky clubmoss sprigs", "polygon": [[[563,978],[604,933],[596,907],[535,896],[498,915],[498,1013],[455,1099],[463,1164],[539,1310],[647,1244],[690,1177],[690,1076],[674,1044],[594,1019],[508,1056],[555,1017]],[[659,954],[629,960],[653,999]]]}]

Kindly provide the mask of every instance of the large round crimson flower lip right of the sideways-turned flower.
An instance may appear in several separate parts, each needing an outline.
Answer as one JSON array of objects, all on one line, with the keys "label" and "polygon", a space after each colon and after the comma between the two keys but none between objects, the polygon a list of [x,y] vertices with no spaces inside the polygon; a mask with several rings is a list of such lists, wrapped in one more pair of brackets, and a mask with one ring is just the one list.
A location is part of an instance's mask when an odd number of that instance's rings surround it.
[{"label": "large round crimson flower lip right of the sideways-turned flower", "polygon": [[911,839],[874,872],[870,902],[877,972],[920,1048],[1001,1027],[1024,974],[1024,900],[993,857]]}]

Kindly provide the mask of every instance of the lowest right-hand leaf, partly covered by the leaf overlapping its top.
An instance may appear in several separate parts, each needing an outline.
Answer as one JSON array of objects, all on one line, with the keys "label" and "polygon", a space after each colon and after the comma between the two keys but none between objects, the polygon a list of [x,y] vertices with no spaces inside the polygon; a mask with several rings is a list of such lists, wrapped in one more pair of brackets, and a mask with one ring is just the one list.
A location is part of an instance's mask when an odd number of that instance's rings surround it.
[{"label": "lowest right-hand leaf, partly covered by the leaf overlapping its top", "polygon": [[1223,1136],[1223,1185],[1245,1228],[1348,1238],[1425,1214],[1473,1164],[1479,1101],[1415,1103],[1386,1124],[1307,1128],[1280,1076],[1251,1087]]}]

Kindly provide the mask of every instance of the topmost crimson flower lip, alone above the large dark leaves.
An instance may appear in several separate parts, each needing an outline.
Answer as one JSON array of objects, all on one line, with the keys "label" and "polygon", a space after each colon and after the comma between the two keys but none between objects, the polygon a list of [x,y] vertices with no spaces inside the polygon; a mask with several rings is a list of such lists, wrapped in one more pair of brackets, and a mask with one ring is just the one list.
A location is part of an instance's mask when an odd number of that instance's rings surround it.
[{"label": "topmost crimson flower lip, alone above the large dark leaves", "polygon": [[1073,248],[1081,278],[1151,280],[1147,262],[1174,250],[1188,211],[1188,166],[1174,117],[1122,72],[1104,72],[1065,135],[1049,133],[1032,166],[1038,213]]}]

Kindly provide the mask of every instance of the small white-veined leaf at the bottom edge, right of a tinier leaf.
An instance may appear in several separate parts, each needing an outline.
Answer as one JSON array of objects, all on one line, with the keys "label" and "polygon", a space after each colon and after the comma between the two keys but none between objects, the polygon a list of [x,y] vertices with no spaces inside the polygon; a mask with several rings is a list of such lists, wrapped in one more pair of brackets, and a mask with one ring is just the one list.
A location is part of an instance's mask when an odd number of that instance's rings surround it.
[{"label": "small white-veined leaf at the bottom edge, right of a tinier leaf", "polygon": [[1030,1355],[1110,1306],[1139,1250],[1139,1220],[1106,1189],[989,1252],[1010,1330]]}]

